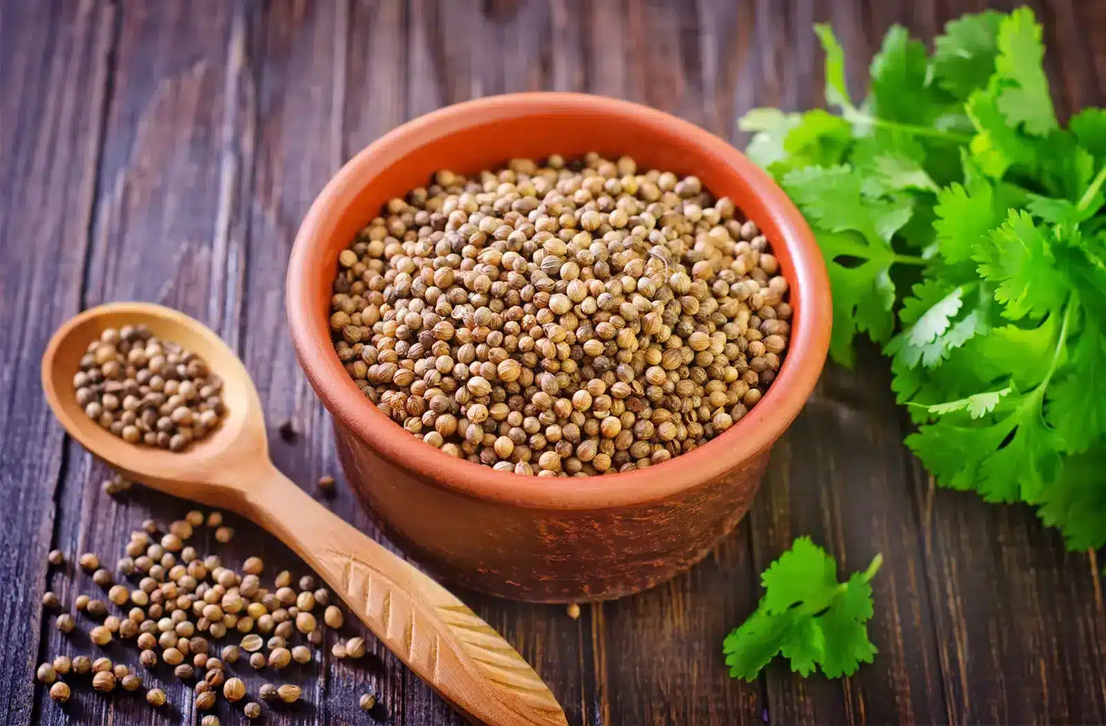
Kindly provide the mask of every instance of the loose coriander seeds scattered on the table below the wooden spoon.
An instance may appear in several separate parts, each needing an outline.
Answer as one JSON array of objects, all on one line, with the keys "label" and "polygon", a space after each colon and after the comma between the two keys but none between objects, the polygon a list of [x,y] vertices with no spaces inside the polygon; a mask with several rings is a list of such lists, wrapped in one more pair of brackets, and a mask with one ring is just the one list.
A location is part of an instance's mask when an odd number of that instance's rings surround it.
[{"label": "loose coriander seeds scattered on the table below the wooden spoon", "polygon": [[[150,706],[159,707],[167,701],[167,688],[149,681],[166,673],[189,684],[192,707],[204,714],[202,726],[219,726],[210,712],[220,699],[250,719],[262,715],[259,701],[300,701],[302,688],[292,683],[264,683],[249,693],[236,672],[249,668],[279,677],[288,667],[320,661],[323,626],[342,628],[342,610],[310,574],[294,580],[284,570],[264,587],[260,558],[250,557],[234,570],[223,567],[218,554],[200,556],[188,541],[204,526],[219,543],[234,533],[218,511],[189,511],[167,527],[146,520],[131,533],[114,572],[94,552],[77,558],[76,566],[91,573],[103,599],[79,594],[72,612],[59,612],[60,598],[44,594],[43,608],[58,613],[58,630],[71,637],[86,626],[96,649],[88,655],[60,655],[36,667],[35,677],[49,686],[55,702],[64,704],[75,688],[91,686],[101,694],[140,689]],[[50,552],[49,561],[55,569],[67,566],[60,550]],[[115,642],[137,650],[142,668],[104,655]],[[355,636],[335,642],[332,652],[356,658],[367,649],[364,639]],[[377,707],[374,693],[363,694],[358,705],[369,701],[368,708]]]}]

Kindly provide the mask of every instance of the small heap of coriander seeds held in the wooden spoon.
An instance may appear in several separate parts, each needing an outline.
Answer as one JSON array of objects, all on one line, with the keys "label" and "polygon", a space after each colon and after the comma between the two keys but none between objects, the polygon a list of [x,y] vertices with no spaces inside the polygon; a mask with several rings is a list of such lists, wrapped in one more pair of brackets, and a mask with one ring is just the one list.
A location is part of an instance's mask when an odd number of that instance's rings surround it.
[{"label": "small heap of coriander seeds held in the wooden spoon", "polygon": [[85,414],[128,444],[184,450],[226,413],[222,380],[195,353],[145,325],[103,331],[73,376]]}]

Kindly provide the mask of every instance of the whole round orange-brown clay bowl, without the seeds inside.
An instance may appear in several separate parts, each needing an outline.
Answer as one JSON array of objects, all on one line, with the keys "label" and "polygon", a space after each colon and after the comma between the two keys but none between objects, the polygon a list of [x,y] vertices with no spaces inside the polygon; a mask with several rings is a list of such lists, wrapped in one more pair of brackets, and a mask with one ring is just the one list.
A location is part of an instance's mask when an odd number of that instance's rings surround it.
[{"label": "whole round orange-brown clay bowl, without the seeds inside", "polygon": [[[791,286],[790,350],[762,401],[706,446],[659,466],[544,479],[452,458],[380,413],[331,344],[338,252],[380,206],[440,168],[596,151],[696,174],[760,226]],[[533,602],[612,599],[667,580],[741,520],[773,443],[825,362],[830,282],[810,228],[772,179],[721,138],[659,111],[571,93],[522,93],[416,118],[357,154],[312,205],[292,249],[288,317],[300,363],[331,412],[342,465],[385,532],[431,571]]]}]

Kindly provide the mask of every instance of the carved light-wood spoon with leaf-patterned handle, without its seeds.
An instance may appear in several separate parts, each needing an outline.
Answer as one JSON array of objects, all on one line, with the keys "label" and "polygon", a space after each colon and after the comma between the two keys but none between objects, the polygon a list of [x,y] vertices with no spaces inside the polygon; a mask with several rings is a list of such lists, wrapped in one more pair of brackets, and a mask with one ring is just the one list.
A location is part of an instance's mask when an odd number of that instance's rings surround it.
[{"label": "carved light-wood spoon with leaf-patterned handle, without its seeds", "polygon": [[[145,324],[158,338],[179,343],[223,380],[222,424],[179,454],[127,444],[76,403],[73,376],[88,343],[107,328],[128,324]],[[237,511],[279,537],[400,661],[470,720],[566,725],[541,677],[488,623],[276,470],[253,382],[233,351],[200,322],[140,302],[87,310],[51,339],[42,356],[42,388],[65,431],[126,477]]]}]

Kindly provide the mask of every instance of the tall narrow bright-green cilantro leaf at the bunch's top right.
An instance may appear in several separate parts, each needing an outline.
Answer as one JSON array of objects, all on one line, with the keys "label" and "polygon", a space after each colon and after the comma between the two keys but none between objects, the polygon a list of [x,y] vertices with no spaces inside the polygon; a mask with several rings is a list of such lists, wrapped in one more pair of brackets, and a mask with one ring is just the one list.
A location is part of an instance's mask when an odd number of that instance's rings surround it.
[{"label": "tall narrow bright-green cilantro leaf at the bunch's top right", "polygon": [[994,59],[997,105],[1012,126],[1044,136],[1056,128],[1056,113],[1048,95],[1048,79],[1042,60],[1041,25],[1033,11],[1019,8],[999,25],[999,54]]}]

